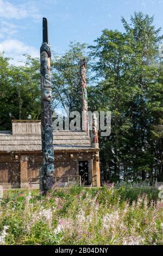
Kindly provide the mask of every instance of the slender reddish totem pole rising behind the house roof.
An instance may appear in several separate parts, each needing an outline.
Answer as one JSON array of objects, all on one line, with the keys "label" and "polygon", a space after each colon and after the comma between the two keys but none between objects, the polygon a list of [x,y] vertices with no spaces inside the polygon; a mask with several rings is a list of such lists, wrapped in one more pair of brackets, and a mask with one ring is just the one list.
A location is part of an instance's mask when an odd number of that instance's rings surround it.
[{"label": "slender reddish totem pole rising behind the house roof", "polygon": [[80,76],[82,85],[82,119],[84,132],[88,133],[87,129],[87,91],[86,91],[86,59],[80,60]]}]

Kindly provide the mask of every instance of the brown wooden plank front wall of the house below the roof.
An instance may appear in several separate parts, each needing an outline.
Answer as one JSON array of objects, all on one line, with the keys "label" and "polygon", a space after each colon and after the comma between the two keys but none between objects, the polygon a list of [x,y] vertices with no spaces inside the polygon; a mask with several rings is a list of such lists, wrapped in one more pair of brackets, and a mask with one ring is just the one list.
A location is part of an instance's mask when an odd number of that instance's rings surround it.
[{"label": "brown wooden plank front wall of the house below the roof", "polygon": [[[79,175],[78,161],[91,161],[91,153],[55,153],[55,176]],[[39,178],[41,154],[27,155],[28,179]],[[0,183],[20,183],[20,155],[0,155]]]}]

